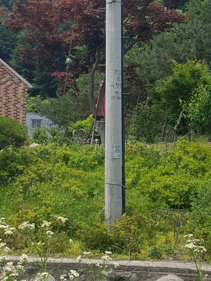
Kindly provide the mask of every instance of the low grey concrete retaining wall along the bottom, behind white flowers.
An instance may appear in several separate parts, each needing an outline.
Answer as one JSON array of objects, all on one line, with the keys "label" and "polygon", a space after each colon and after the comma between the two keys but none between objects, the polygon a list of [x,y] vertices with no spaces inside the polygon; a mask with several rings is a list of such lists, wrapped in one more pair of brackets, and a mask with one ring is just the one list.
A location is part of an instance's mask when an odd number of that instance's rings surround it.
[{"label": "low grey concrete retaining wall along the bottom, behind white flowers", "polygon": [[[16,257],[10,257],[10,261],[14,263],[18,262],[19,259]],[[36,273],[42,272],[41,267],[37,266],[35,263],[36,259],[33,259],[33,269],[26,267],[25,275],[22,279],[33,279]],[[87,265],[88,259],[83,259],[83,264]],[[91,259],[93,264],[102,264],[101,260]],[[109,280],[111,281],[156,281],[162,276],[166,276],[162,280],[184,280],[184,281],[197,281],[195,265],[192,263],[177,263],[177,262],[156,262],[156,261],[112,261],[108,270],[106,270],[105,275],[109,275],[113,268],[113,263],[118,262],[120,267],[115,270]],[[76,270],[80,274],[80,278],[83,280],[90,280],[86,270],[83,268],[83,264],[79,263],[75,259],[63,259],[61,264],[61,259],[49,258],[48,262],[48,272],[52,276],[56,276],[56,280],[59,280],[61,274],[67,274],[71,269]],[[207,280],[211,281],[211,266],[203,265],[203,273],[208,274]],[[169,275],[170,274],[170,275]],[[175,276],[175,278],[172,277]],[[178,278],[177,278],[178,276]],[[181,278],[181,279],[179,279]],[[98,279],[96,279],[98,280]]]}]

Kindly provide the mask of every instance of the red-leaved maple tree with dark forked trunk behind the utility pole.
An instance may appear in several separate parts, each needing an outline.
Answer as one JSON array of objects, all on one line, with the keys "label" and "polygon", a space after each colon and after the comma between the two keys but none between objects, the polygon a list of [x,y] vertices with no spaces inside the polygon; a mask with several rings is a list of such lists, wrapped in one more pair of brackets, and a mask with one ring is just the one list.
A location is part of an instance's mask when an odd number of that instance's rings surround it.
[{"label": "red-leaved maple tree with dark forked trunk behind the utility pole", "polygon": [[[5,17],[4,23],[13,33],[25,31],[24,42],[18,49],[21,58],[41,71],[51,71],[62,86],[76,2],[71,50],[73,63],[69,67],[67,83],[73,86],[81,73],[89,73],[90,109],[94,115],[100,116],[94,98],[94,74],[99,64],[105,62],[105,10],[99,9],[106,6],[105,0],[23,0],[14,4],[11,13],[2,8],[1,16]],[[147,41],[183,19],[184,16],[176,10],[155,0],[124,0],[124,35],[129,37],[124,52],[136,42]],[[100,91],[99,109],[104,94],[105,85]],[[102,125],[100,127],[104,130]]]}]

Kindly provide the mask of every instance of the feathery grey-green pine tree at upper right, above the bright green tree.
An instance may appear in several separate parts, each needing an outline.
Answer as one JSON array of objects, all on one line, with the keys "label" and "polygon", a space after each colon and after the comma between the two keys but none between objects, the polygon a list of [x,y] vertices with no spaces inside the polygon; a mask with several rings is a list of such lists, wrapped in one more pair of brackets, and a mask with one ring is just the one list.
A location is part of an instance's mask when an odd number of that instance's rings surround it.
[{"label": "feathery grey-green pine tree at upper right, above the bright green tree", "polygon": [[192,16],[148,42],[138,42],[125,55],[125,64],[136,62],[141,65],[138,73],[143,89],[147,83],[170,75],[172,60],[183,64],[187,58],[197,58],[211,66],[211,2],[190,0],[185,13]]}]

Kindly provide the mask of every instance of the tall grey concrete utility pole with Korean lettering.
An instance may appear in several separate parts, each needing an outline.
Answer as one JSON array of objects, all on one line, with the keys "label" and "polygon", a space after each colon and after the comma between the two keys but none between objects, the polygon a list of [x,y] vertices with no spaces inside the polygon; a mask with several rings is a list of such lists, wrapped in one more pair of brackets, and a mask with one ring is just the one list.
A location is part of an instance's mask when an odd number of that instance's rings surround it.
[{"label": "tall grey concrete utility pole with Korean lettering", "polygon": [[105,220],[122,214],[121,0],[106,0]]}]

